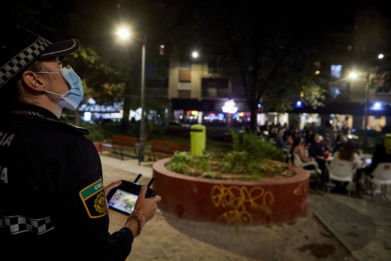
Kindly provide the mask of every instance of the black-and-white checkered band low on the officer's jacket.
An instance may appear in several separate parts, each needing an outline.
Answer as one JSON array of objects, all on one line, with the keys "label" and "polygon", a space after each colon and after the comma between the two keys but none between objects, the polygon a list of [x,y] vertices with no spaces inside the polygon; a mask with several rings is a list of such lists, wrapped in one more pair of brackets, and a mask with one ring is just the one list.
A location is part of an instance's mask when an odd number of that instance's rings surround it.
[{"label": "black-and-white checkered band low on the officer's jacket", "polygon": [[3,216],[0,212],[0,227],[7,227],[11,234],[19,234],[22,232],[34,232],[43,234],[54,229],[50,216],[46,218],[27,218],[25,216]]}]

